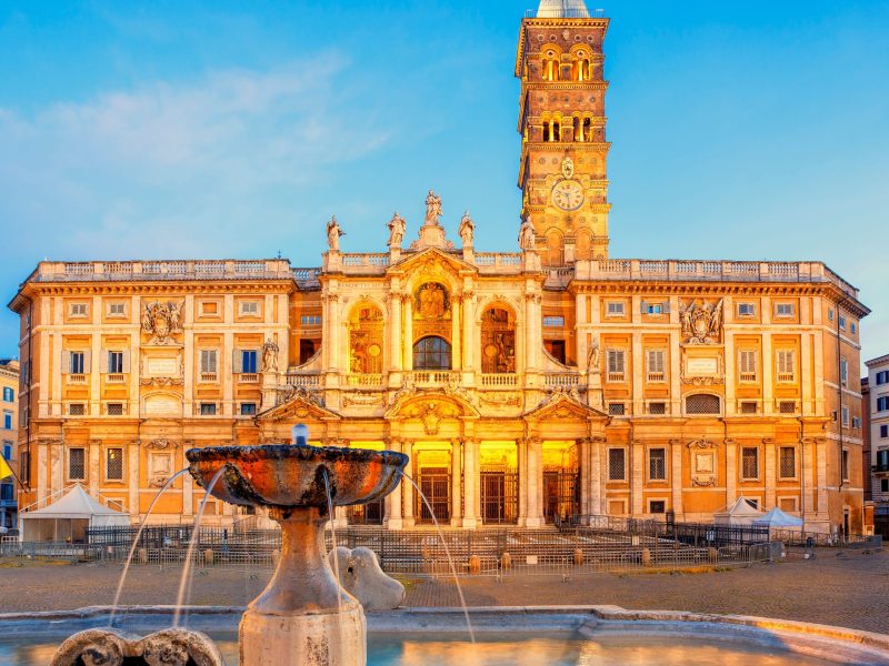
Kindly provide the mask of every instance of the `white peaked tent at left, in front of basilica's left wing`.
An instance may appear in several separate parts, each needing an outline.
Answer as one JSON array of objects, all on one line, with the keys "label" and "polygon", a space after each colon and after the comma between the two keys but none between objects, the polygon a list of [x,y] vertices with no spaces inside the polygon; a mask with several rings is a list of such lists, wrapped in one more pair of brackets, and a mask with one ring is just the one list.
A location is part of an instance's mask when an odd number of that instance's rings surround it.
[{"label": "white peaked tent at left, in front of basilica's left wing", "polygon": [[130,516],[91,497],[80,484],[49,506],[19,514],[23,542],[84,542],[88,527],[127,526]]}]

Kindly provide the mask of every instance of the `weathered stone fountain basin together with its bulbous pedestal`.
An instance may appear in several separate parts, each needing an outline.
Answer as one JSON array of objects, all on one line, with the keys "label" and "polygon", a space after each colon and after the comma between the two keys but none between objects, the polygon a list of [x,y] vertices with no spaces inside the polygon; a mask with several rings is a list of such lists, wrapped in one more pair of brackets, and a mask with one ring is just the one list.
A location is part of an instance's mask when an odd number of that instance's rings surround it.
[{"label": "weathered stone fountain basin together with its bulbous pedestal", "polygon": [[[324,554],[334,506],[392,492],[408,457],[391,451],[314,447],[308,430],[293,444],[219,446],[186,453],[202,487],[230,504],[262,506],[281,525],[278,567],[239,627],[241,666],[363,666],[367,625],[358,601],[339,585]],[[211,480],[222,471],[211,486]],[[330,498],[328,500],[328,493]]]}]

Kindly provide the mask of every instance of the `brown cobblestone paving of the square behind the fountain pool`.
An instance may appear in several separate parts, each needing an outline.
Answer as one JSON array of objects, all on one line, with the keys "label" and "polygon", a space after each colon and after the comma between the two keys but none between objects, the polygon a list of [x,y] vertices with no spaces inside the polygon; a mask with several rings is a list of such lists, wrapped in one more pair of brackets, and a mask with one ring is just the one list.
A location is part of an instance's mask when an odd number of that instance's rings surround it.
[{"label": "brown cobblestone paving of the square behind the fountain pool", "polygon": [[[54,610],[110,604],[119,566],[29,564],[0,566],[0,612]],[[268,574],[211,569],[193,579],[191,603],[244,605]],[[178,569],[137,566],[123,604],[173,604]],[[889,551],[865,555],[825,551],[813,561],[698,574],[592,574],[552,577],[466,578],[470,606],[615,604],[625,608],[762,615],[889,633]],[[408,605],[456,606],[447,582],[408,582]]]}]

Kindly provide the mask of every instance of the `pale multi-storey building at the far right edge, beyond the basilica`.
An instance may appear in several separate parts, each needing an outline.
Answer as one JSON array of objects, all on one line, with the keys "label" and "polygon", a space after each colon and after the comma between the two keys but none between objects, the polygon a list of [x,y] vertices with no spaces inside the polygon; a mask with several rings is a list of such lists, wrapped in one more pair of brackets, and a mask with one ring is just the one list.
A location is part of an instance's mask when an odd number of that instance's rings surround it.
[{"label": "pale multi-storey building at the far right edge, beyond the basilica", "polygon": [[889,538],[889,355],[872,359],[865,365],[868,369],[863,408],[869,425],[870,458],[867,467],[870,474],[866,474],[869,476],[869,500],[873,507],[873,531]]}]

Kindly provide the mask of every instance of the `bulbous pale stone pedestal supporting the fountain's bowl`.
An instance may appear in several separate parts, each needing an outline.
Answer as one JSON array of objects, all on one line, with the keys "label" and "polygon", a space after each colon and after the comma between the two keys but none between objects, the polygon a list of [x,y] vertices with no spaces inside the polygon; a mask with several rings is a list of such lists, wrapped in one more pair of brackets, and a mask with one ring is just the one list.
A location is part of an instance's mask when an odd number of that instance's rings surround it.
[{"label": "bulbous pale stone pedestal supporting the fountain's bowl", "polygon": [[241,666],[363,666],[367,625],[323,556],[327,512],[271,508],[281,525],[278,568],[248,607],[239,630]]}]

